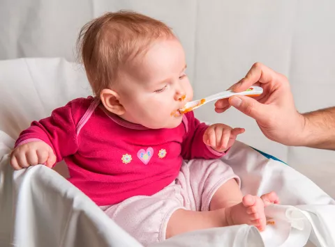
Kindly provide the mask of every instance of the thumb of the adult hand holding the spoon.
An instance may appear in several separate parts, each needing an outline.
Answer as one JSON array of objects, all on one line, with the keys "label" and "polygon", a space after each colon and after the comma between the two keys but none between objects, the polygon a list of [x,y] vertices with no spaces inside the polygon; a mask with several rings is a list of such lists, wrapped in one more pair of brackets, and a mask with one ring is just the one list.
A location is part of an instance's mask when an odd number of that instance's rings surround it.
[{"label": "thumb of the adult hand holding the spoon", "polygon": [[232,96],[229,98],[229,104],[256,121],[262,122],[268,118],[267,105],[251,97]]}]

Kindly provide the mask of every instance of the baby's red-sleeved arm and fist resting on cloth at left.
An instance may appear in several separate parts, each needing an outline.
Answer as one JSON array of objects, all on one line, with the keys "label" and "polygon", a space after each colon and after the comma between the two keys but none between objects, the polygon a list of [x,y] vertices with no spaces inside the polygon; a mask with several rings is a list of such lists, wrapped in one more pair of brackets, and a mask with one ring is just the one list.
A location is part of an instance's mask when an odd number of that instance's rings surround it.
[{"label": "baby's red-sleeved arm and fist resting on cloth at left", "polygon": [[15,143],[10,164],[15,170],[36,164],[51,167],[78,149],[72,104],[52,111],[49,118],[34,121]]}]

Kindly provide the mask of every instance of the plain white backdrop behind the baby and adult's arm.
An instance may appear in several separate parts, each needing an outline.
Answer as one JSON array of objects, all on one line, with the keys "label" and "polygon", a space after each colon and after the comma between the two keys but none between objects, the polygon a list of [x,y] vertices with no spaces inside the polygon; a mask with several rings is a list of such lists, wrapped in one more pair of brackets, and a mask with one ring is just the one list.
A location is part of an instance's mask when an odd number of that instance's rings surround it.
[{"label": "plain white backdrop behind the baby and adult's arm", "polygon": [[[228,88],[260,61],[290,79],[299,111],[335,105],[331,0],[0,0],[0,59],[74,61],[80,28],[102,13],[121,9],[172,26],[186,50],[195,98]],[[335,196],[335,152],[271,142],[255,121],[234,109],[216,114],[209,104],[195,113],[205,121],[246,128],[240,141],[283,159]]]}]

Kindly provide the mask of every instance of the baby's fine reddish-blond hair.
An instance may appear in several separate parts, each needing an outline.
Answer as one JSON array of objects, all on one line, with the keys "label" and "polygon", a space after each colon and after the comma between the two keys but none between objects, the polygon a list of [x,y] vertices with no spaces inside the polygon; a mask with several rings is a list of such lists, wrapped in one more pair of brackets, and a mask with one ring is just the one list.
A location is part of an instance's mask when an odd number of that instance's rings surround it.
[{"label": "baby's fine reddish-blond hair", "polygon": [[163,22],[129,11],[105,13],[85,24],[77,49],[94,94],[98,96],[103,88],[109,88],[120,67],[152,42],[174,37]]}]

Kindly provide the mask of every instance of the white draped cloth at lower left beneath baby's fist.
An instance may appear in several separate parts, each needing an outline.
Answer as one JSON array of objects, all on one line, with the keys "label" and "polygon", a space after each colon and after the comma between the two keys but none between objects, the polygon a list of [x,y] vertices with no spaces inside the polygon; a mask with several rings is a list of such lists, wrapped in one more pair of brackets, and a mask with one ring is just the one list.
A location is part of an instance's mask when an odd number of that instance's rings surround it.
[{"label": "white draped cloth at lower left beneath baby's fist", "polygon": [[13,174],[13,145],[0,132],[0,246],[141,246],[52,169]]}]

